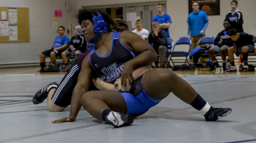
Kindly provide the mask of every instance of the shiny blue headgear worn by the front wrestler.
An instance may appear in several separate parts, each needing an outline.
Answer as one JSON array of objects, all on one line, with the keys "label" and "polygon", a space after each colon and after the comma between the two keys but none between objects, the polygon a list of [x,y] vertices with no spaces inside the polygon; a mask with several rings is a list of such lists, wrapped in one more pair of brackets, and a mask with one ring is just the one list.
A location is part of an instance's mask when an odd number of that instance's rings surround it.
[{"label": "shiny blue headgear worn by the front wrestler", "polygon": [[103,19],[100,13],[97,12],[97,14],[98,16],[95,16],[92,14],[93,16],[92,22],[94,23],[93,31],[96,34],[96,36],[91,41],[91,43],[96,43],[101,33],[108,32],[107,23],[105,22],[105,20]]}]

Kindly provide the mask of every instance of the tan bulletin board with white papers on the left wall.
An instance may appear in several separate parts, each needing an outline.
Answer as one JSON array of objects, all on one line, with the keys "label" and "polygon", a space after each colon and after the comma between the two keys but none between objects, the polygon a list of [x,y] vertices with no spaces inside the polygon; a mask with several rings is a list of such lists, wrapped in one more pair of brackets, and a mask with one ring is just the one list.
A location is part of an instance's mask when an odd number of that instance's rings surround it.
[{"label": "tan bulletin board with white papers on the left wall", "polygon": [[29,42],[28,8],[0,7],[0,43]]}]

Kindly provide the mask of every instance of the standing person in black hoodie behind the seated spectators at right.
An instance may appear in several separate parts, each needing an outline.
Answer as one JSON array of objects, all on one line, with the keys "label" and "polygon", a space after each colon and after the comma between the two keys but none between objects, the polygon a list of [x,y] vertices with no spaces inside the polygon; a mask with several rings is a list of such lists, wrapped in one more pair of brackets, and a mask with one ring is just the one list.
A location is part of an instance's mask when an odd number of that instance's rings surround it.
[{"label": "standing person in black hoodie behind the seated spectators at right", "polygon": [[238,30],[238,32],[243,32],[243,15],[237,8],[238,2],[237,0],[232,0],[230,3],[231,10],[226,15],[226,20],[231,21],[231,27]]}]

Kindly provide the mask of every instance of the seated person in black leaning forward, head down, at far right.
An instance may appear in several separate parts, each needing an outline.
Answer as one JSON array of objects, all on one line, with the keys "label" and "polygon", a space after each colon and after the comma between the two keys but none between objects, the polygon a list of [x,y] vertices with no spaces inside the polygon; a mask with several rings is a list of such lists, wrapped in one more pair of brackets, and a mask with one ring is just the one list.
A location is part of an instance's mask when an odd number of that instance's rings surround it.
[{"label": "seated person in black leaning forward, head down, at far right", "polygon": [[248,53],[254,52],[253,39],[256,41],[256,36],[249,35],[244,32],[238,32],[236,29],[230,29],[229,36],[234,41],[235,45],[230,47],[228,50],[231,67],[229,70],[227,69],[227,71],[237,71],[234,64],[234,53],[236,56],[239,56],[240,53],[243,55],[244,66],[241,66],[239,71],[248,71]]}]

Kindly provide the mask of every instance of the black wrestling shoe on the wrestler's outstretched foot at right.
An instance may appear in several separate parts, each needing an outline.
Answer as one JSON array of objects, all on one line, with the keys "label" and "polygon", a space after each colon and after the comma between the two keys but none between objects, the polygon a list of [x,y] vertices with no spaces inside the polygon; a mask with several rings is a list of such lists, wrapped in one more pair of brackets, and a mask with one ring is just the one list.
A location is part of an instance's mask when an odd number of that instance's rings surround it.
[{"label": "black wrestling shoe on the wrestler's outstretched foot at right", "polygon": [[227,116],[231,112],[231,108],[213,108],[211,106],[204,116],[206,121],[216,121],[217,119]]}]

